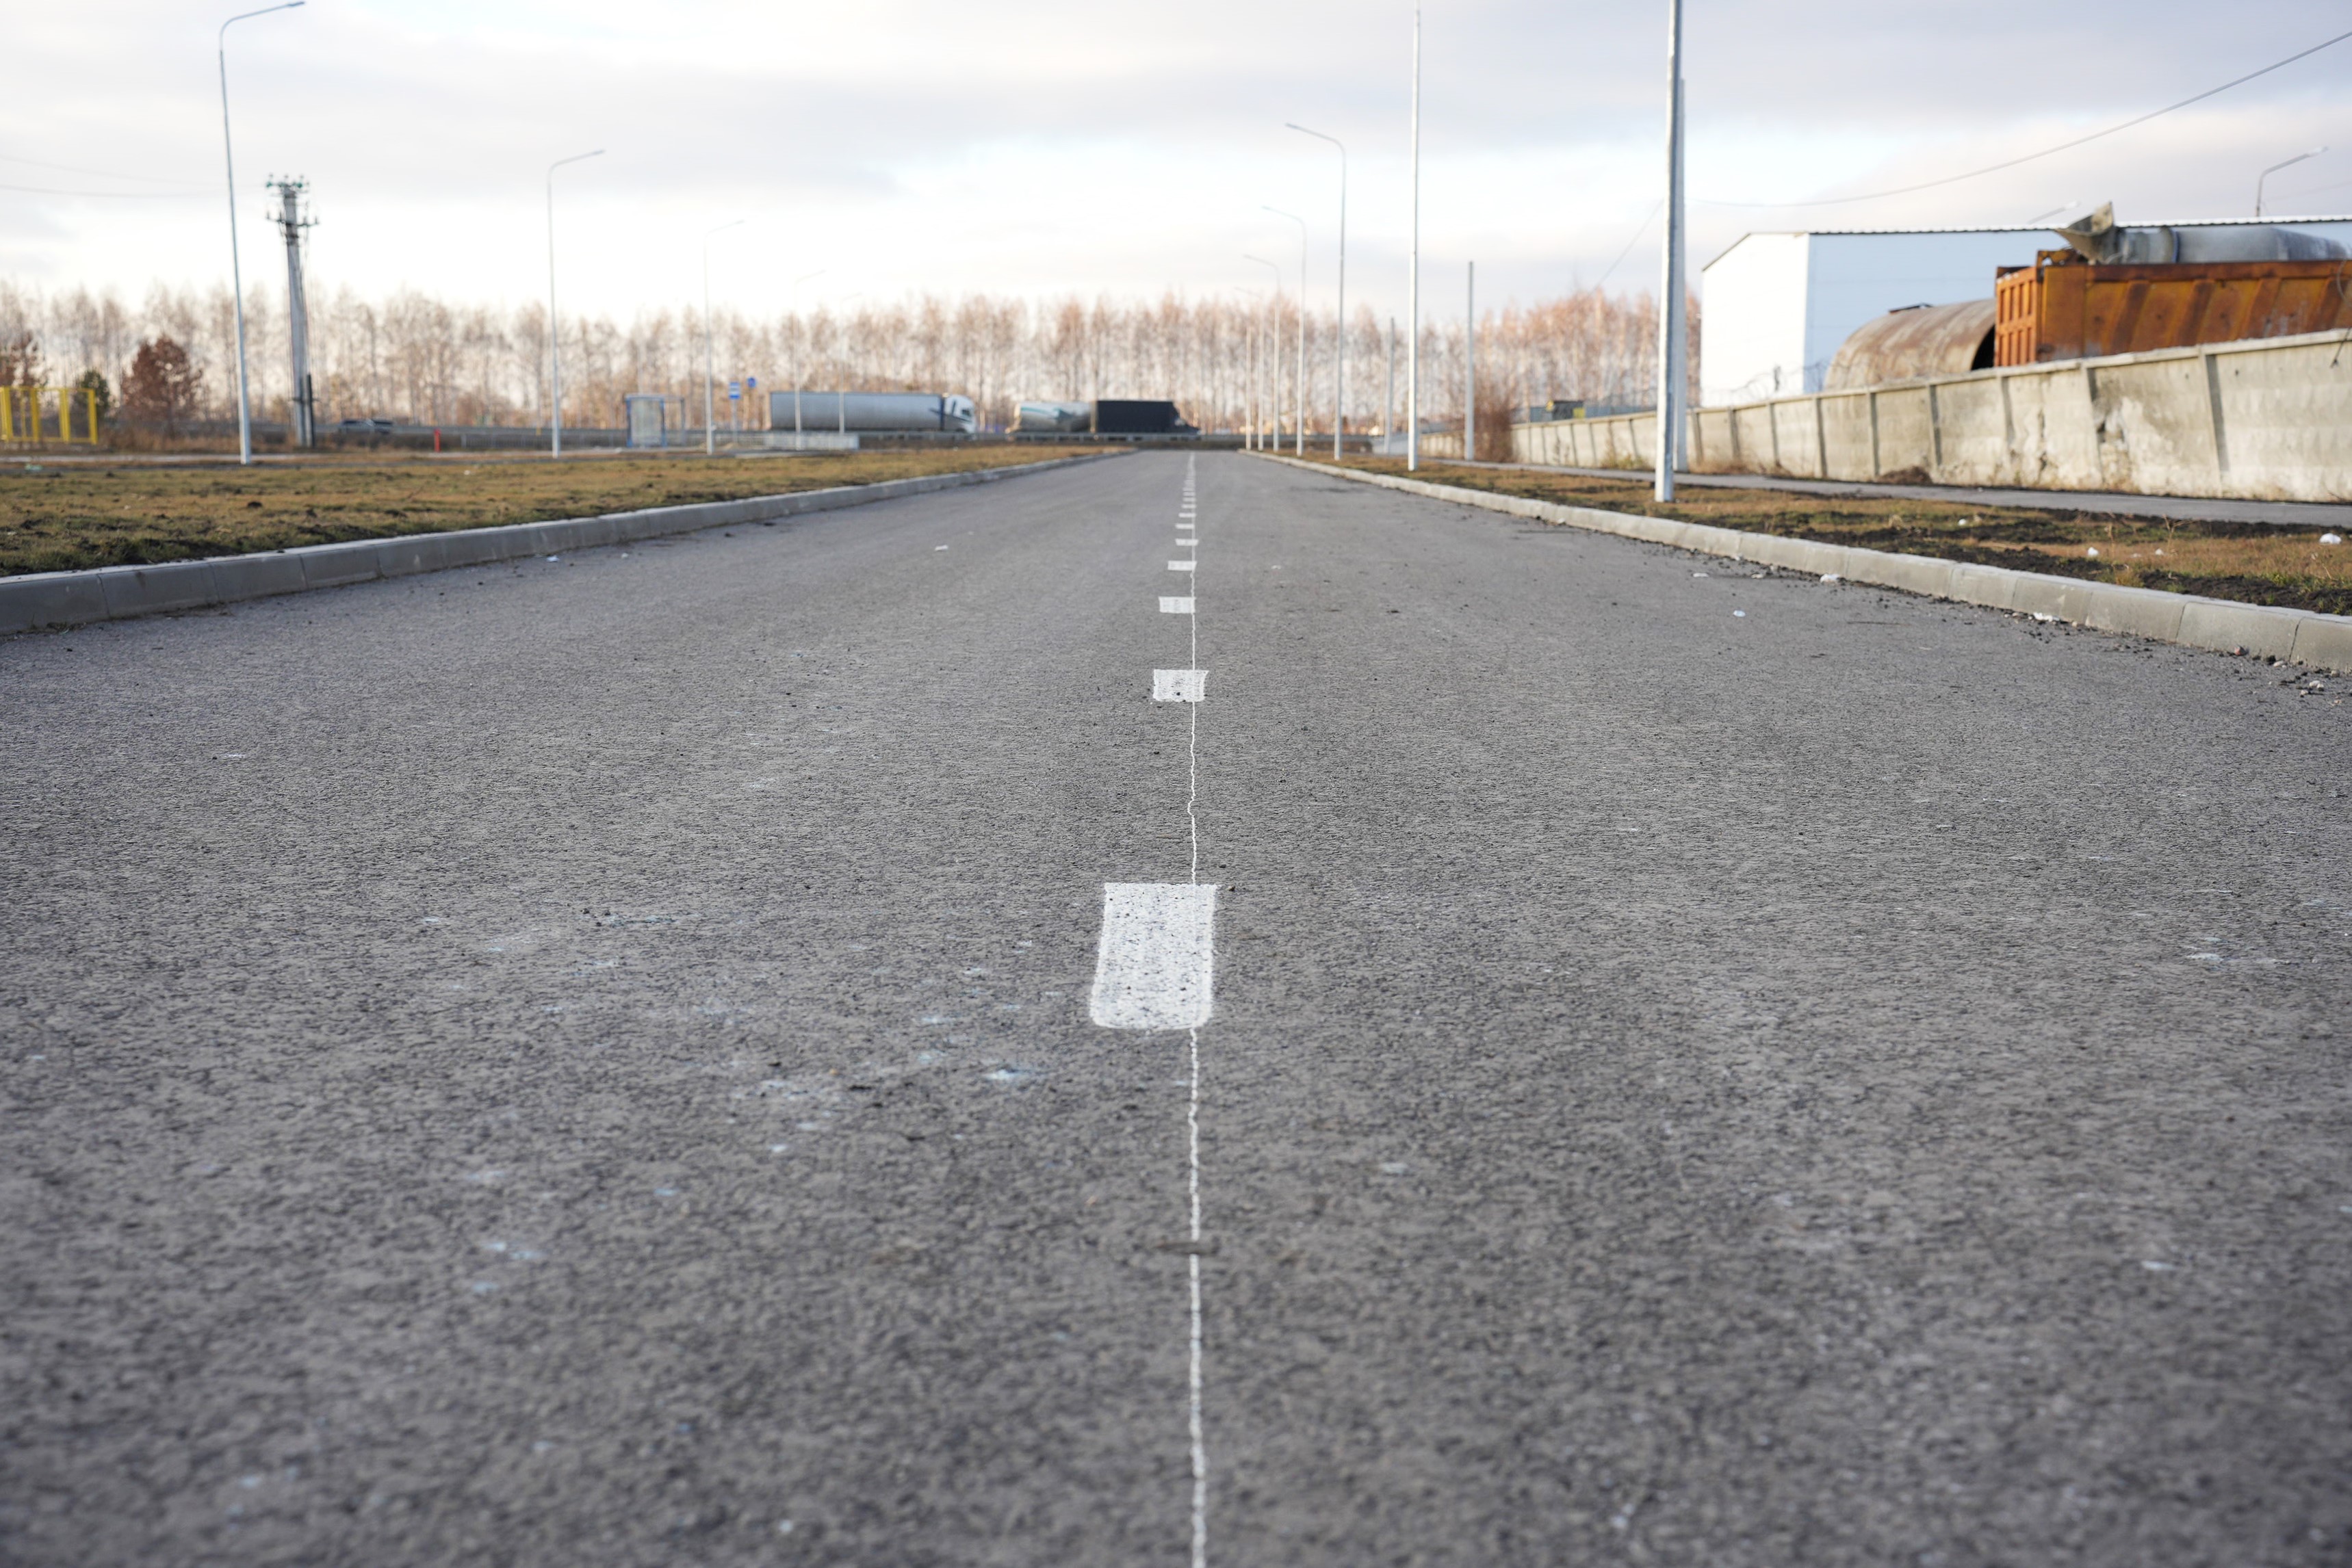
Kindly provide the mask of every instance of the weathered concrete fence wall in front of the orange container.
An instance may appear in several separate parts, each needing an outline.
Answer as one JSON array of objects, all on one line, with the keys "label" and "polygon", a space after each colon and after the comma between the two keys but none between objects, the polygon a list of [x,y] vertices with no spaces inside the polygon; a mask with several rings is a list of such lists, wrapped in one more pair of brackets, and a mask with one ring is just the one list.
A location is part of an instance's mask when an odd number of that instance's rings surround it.
[{"label": "weathered concrete fence wall in front of the orange container", "polygon": [[[1698,409],[1691,473],[2352,501],[2352,334],[2023,364]],[[1656,414],[1512,425],[1522,463],[1649,468]]]}]

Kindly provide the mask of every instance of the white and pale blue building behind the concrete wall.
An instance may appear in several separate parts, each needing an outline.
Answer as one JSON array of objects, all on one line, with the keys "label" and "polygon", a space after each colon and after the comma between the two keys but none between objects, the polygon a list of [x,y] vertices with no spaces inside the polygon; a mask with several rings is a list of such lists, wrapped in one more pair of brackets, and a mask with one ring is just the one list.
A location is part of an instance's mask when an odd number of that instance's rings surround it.
[{"label": "white and pale blue building behind the concrete wall", "polygon": [[[2225,228],[2227,223],[2169,223]],[[2352,219],[2265,219],[2352,247]],[[2133,228],[2154,228],[2133,223]],[[1745,235],[1700,268],[1698,400],[1818,393],[1837,346],[1903,306],[1992,299],[2004,266],[2065,244],[2049,228],[1912,228]]]}]

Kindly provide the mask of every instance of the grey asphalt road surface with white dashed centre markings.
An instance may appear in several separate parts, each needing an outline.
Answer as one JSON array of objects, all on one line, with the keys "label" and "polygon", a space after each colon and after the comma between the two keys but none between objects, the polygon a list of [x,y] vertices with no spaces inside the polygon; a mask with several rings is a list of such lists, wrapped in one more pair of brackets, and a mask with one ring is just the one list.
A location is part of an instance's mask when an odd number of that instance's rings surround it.
[{"label": "grey asphalt road surface with white dashed centre markings", "polygon": [[2352,1561],[2340,689],[1185,463],[0,644],[0,1561]]}]

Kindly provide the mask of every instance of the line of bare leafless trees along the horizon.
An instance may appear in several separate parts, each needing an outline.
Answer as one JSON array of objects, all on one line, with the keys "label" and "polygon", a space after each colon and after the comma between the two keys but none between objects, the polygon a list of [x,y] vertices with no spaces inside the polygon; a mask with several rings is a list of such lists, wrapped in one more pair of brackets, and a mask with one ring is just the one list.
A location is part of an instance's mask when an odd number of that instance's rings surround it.
[{"label": "line of bare leafless trees along the horizon", "polygon": [[[1693,381],[1696,381],[1696,306]],[[1296,301],[1228,299],[1011,299],[917,294],[898,303],[818,306],[783,315],[717,310],[710,360],[720,423],[724,386],[755,376],[760,390],[962,393],[985,428],[1004,428],[1023,400],[1174,397],[1207,430],[1272,423],[1291,428],[1301,327],[1305,331],[1308,428],[1331,428],[1331,367],[1341,329],[1329,310]],[[245,303],[256,418],[287,418],[292,369],[282,289],[256,287]],[[1656,371],[1656,303],[1646,294],[1578,289],[1479,315],[1477,395],[1482,423],[1510,407],[1581,397],[1649,407]],[[1359,306],[1345,329],[1348,428],[1404,421],[1404,346],[1385,315]],[[1458,425],[1465,388],[1465,322],[1423,322],[1421,411]],[[1395,350],[1395,378],[1388,364]],[[141,362],[141,355],[146,360]],[[414,289],[362,299],[315,289],[310,378],[322,423],[395,418],[430,425],[541,425],[548,418],[546,306],[452,303]],[[0,280],[0,383],[101,383],[127,414],[226,418],[235,414],[235,306],[226,287],[151,287],[134,308],[115,292]],[[621,425],[626,393],[684,402],[701,423],[703,322],[696,308],[562,317],[567,425]],[[115,397],[120,393],[120,397]],[[172,404],[165,409],[162,404]],[[764,423],[764,397],[746,400],[743,423]]]}]

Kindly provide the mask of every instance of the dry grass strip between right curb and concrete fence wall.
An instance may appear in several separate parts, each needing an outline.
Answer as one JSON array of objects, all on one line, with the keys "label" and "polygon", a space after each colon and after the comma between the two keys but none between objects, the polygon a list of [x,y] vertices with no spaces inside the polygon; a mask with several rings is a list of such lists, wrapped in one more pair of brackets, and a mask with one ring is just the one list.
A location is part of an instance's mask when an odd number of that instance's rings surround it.
[{"label": "dry grass strip between right curb and concrete fence wall", "polygon": [[[1348,465],[1404,473],[1402,458],[1350,458]],[[1987,508],[1907,496],[1804,496],[1712,484],[1684,487],[1672,505],[1658,505],[1649,494],[1649,475],[1595,480],[1454,463],[1423,463],[1418,477],[1750,534],[2352,616],[2352,545],[2321,545],[2321,529],[2307,527],[2107,517],[2063,505]]]}]

